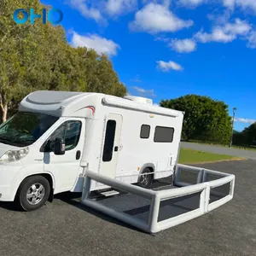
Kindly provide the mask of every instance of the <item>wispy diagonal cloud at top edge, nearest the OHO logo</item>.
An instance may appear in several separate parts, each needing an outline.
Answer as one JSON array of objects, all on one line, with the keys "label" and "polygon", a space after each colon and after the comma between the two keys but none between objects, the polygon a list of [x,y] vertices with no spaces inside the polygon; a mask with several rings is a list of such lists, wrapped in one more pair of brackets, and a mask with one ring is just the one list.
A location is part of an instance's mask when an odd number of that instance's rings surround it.
[{"label": "wispy diagonal cloud at top edge, nearest the OHO logo", "polygon": [[79,10],[81,15],[85,18],[96,20],[96,22],[106,23],[101,12],[93,7],[88,7],[85,0],[69,0],[68,3],[73,9]]}]

